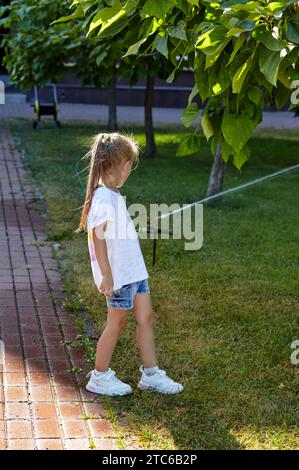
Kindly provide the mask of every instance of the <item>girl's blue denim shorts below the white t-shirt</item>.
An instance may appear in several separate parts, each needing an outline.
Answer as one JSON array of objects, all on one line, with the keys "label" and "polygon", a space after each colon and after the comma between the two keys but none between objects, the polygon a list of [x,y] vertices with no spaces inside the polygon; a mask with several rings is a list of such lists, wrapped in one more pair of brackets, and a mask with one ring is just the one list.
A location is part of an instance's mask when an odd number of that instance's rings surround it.
[{"label": "girl's blue denim shorts below the white t-shirt", "polygon": [[110,299],[107,297],[107,305],[111,308],[129,310],[134,306],[134,297],[136,294],[147,294],[150,292],[147,279],[142,281],[125,284],[120,289],[113,291]]}]

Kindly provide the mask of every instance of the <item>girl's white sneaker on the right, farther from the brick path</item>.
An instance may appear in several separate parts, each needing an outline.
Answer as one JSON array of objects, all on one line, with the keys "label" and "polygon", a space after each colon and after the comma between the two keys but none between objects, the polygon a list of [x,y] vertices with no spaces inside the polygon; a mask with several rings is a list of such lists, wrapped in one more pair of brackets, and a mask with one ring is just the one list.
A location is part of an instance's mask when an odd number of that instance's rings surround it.
[{"label": "girl's white sneaker on the right, farther from the brick path", "polygon": [[184,390],[182,384],[174,382],[170,377],[166,375],[165,370],[159,369],[153,375],[146,375],[143,366],[139,368],[142,372],[141,379],[137,387],[140,390],[153,390],[160,393],[180,393]]}]

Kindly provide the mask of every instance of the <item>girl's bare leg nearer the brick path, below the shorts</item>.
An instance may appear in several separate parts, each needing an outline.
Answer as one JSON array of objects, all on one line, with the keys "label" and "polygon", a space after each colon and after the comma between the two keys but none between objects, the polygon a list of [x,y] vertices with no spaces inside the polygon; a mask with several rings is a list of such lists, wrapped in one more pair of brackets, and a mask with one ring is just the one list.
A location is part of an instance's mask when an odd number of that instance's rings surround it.
[{"label": "girl's bare leg nearer the brick path, below the shorts", "polygon": [[108,307],[106,327],[98,341],[96,353],[96,370],[108,370],[118,338],[128,318],[128,310]]}]

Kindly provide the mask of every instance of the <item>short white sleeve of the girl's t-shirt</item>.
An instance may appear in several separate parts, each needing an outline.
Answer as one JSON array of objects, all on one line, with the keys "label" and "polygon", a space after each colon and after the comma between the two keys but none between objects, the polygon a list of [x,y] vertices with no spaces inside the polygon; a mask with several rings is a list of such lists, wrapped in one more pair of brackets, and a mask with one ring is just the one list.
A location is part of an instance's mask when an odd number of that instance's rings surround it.
[{"label": "short white sleeve of the girl's t-shirt", "polygon": [[96,192],[92,198],[91,208],[88,214],[89,230],[92,230],[104,222],[113,221],[115,218],[114,212],[113,203],[109,195]]}]

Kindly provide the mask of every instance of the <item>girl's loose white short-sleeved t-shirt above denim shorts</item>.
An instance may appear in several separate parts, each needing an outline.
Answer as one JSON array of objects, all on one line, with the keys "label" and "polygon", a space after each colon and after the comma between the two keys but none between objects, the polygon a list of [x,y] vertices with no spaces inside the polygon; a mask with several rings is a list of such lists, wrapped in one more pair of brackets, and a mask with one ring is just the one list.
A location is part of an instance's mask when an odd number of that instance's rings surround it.
[{"label": "girl's loose white short-sleeved t-shirt above denim shorts", "polygon": [[102,273],[95,254],[93,228],[107,222],[105,240],[113,290],[148,278],[134,223],[120,192],[97,188],[87,218],[88,248],[94,282],[99,289]]}]

